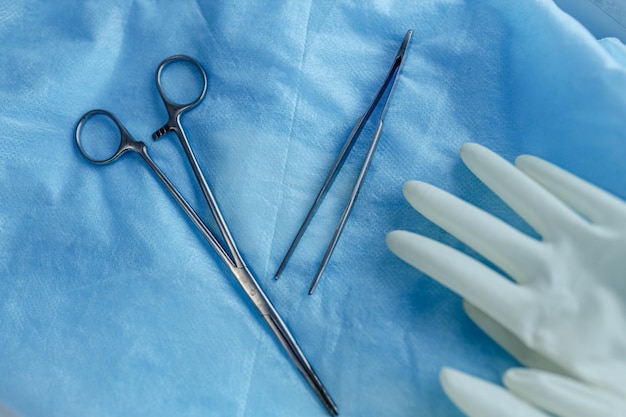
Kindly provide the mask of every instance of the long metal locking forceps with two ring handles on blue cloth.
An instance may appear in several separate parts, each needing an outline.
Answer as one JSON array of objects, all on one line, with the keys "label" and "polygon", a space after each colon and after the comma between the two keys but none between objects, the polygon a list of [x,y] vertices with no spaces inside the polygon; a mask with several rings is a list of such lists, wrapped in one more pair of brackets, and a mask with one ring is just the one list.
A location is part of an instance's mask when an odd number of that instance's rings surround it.
[{"label": "long metal locking forceps with two ring handles on blue cloth", "polygon": [[[178,104],[174,101],[170,100],[168,96],[165,94],[162,84],[161,84],[161,74],[163,69],[170,63],[175,61],[186,61],[193,64],[203,79],[203,87],[200,95],[193,101],[187,104]],[[76,126],[75,139],[78,149],[82,153],[82,155],[87,158],[87,160],[100,165],[105,165],[114,162],[120,156],[125,154],[126,152],[135,152],[141,156],[141,158],[145,161],[146,164],[152,169],[154,174],[161,180],[163,186],[170,192],[172,197],[176,200],[176,202],[180,205],[180,207],[185,211],[189,219],[193,222],[193,224],[200,230],[202,235],[209,242],[211,247],[217,252],[218,256],[224,261],[226,266],[230,272],[234,275],[235,279],[239,282],[243,290],[246,292],[248,298],[254,303],[254,306],[261,314],[265,322],[269,325],[270,329],[283,346],[285,351],[287,352],[289,358],[294,362],[298,370],[302,373],[306,381],[313,388],[319,399],[324,404],[324,407],[328,410],[328,412],[335,416],[338,414],[338,409],[330,395],[320,382],[319,378],[313,371],[313,368],[307,361],[306,357],[302,353],[302,350],[298,346],[298,343],[291,335],[289,329],[280,318],[278,313],[276,312],[274,306],[267,298],[256,279],[246,266],[243,261],[243,258],[239,254],[237,249],[237,245],[233,240],[230,231],[224,218],[222,217],[217,202],[213,197],[213,193],[207,184],[202,171],[200,170],[200,166],[198,165],[198,161],[189,145],[189,141],[185,135],[185,131],[183,130],[182,125],[180,124],[180,116],[187,110],[196,106],[206,94],[207,90],[207,75],[202,68],[202,66],[193,58],[184,55],[175,55],[165,59],[161,62],[157,68],[156,72],[156,84],[157,89],[159,90],[159,94],[165,104],[165,108],[168,113],[168,121],[165,125],[163,125],[159,130],[157,130],[153,134],[153,139],[158,139],[167,132],[175,132],[178,136],[178,139],[185,151],[187,159],[189,160],[189,164],[191,165],[194,175],[200,188],[202,189],[202,193],[211,209],[211,213],[215,218],[216,223],[218,224],[219,230],[226,242],[226,247],[222,246],[219,240],[215,237],[215,235],[211,232],[211,230],[207,227],[204,221],[200,218],[200,216],[196,213],[196,211],[189,205],[189,203],[185,200],[185,198],[181,195],[181,193],[176,189],[176,187],[170,182],[170,180],[163,174],[161,169],[157,166],[157,164],[152,160],[152,158],[148,154],[148,149],[144,142],[137,141],[133,139],[130,133],[126,130],[126,128],[122,125],[122,123],[110,112],[106,110],[92,110],[85,113],[82,118],[79,120]],[[87,120],[92,118],[93,116],[100,115],[105,118],[109,118],[117,127],[120,134],[120,144],[115,153],[108,158],[97,158],[90,155],[82,141],[81,134],[83,133],[83,127]]]}]

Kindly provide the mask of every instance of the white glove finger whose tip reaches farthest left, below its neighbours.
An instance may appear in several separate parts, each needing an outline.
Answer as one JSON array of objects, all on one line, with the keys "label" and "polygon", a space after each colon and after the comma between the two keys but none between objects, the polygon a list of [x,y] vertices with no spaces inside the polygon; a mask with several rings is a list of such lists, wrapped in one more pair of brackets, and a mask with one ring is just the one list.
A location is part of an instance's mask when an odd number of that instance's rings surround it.
[{"label": "white glove finger whose tip reaches farthest left, below its neighbours", "polygon": [[468,299],[511,329],[530,304],[528,290],[486,265],[447,245],[415,233],[396,230],[387,246],[402,260]]}]

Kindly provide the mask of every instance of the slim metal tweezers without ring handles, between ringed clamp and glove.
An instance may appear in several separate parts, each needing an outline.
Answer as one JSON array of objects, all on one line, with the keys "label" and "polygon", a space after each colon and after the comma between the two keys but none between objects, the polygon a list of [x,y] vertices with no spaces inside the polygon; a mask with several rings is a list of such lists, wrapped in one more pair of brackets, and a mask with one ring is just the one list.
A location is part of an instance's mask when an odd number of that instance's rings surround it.
[{"label": "slim metal tweezers without ring handles, between ringed clamp and glove", "polygon": [[[402,40],[400,49],[398,50],[398,53],[396,54],[396,57],[393,60],[393,64],[391,65],[391,68],[389,69],[389,72],[387,73],[387,77],[385,78],[383,85],[380,87],[380,89],[376,93],[376,96],[374,97],[370,105],[368,106],[365,113],[363,113],[361,117],[357,119],[357,122],[354,125],[354,128],[352,128],[352,132],[350,132],[348,139],[346,139],[346,142],[341,148],[341,151],[339,151],[339,155],[337,156],[335,163],[330,169],[330,172],[328,173],[328,176],[326,177],[326,180],[324,181],[322,188],[318,192],[317,197],[315,197],[315,201],[313,202],[313,205],[309,209],[309,212],[306,215],[306,218],[302,222],[302,226],[300,226],[300,230],[298,230],[296,237],[293,239],[293,242],[291,242],[291,246],[289,246],[289,249],[287,250],[287,254],[283,258],[283,261],[281,262],[280,266],[278,267],[278,270],[276,271],[276,274],[274,275],[276,279],[280,277],[280,274],[282,274],[283,270],[287,266],[287,262],[289,262],[291,255],[293,255],[293,252],[296,249],[296,246],[298,246],[298,243],[300,242],[300,239],[302,238],[302,236],[304,235],[304,232],[309,226],[309,223],[311,223],[311,220],[313,219],[315,212],[317,211],[318,207],[322,203],[322,200],[324,200],[324,197],[326,196],[328,189],[332,185],[333,181],[335,181],[335,178],[337,177],[339,170],[343,166],[343,163],[346,161],[348,154],[352,150],[352,147],[354,146],[356,139],[361,134],[363,127],[365,127],[365,124],[367,123],[370,116],[374,112],[374,109],[376,109],[376,106],[382,99],[383,95],[385,94],[385,91],[387,91],[387,89],[389,88],[389,94],[387,95],[387,99],[384,102],[383,110],[378,119],[378,123],[376,125],[376,130],[374,132],[374,136],[372,137],[372,141],[370,142],[370,145],[367,149],[367,153],[365,154],[363,165],[361,165],[361,170],[359,171],[357,179],[352,188],[352,192],[350,193],[348,203],[346,204],[344,211],[341,215],[341,218],[339,219],[339,224],[337,225],[337,228],[335,229],[333,237],[330,240],[328,248],[326,249],[324,258],[322,259],[322,262],[320,263],[317,273],[315,274],[315,277],[313,278],[313,282],[311,283],[311,287],[309,288],[309,294],[313,294],[313,291],[315,291],[315,287],[317,287],[317,284],[320,278],[322,277],[322,274],[324,273],[324,270],[326,269],[328,262],[330,261],[330,257],[333,254],[333,251],[335,250],[335,246],[337,246],[337,242],[339,241],[341,232],[343,232],[343,228],[346,224],[346,221],[348,220],[348,216],[350,216],[350,212],[352,211],[352,208],[354,207],[354,202],[356,201],[359,191],[361,190],[363,179],[365,179],[365,174],[367,173],[367,170],[369,169],[369,166],[372,162],[372,157],[374,156],[374,152],[376,151],[376,147],[378,146],[378,142],[380,141],[380,136],[382,135],[382,132],[383,132],[383,119],[385,117],[385,114],[387,113],[389,99],[391,98],[391,95],[393,93],[395,82],[397,80],[398,73],[400,72],[400,67],[402,63],[404,62],[404,54],[406,53],[406,48],[409,44],[409,41],[411,40],[412,35],[413,35],[413,30],[408,30],[406,32],[406,35],[404,35],[404,39]],[[391,87],[389,87],[390,85]]]}]

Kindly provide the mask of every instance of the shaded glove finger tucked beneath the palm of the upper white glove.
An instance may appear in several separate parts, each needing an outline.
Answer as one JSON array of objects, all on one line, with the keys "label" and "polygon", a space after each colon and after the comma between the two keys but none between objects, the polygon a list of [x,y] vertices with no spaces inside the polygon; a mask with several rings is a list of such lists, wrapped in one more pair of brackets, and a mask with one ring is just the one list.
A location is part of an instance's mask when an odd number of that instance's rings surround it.
[{"label": "shaded glove finger tucked beneath the palm of the upper white glove", "polygon": [[534,369],[567,374],[558,364],[526,346],[514,333],[472,303],[465,300],[463,308],[478,327],[522,364]]}]

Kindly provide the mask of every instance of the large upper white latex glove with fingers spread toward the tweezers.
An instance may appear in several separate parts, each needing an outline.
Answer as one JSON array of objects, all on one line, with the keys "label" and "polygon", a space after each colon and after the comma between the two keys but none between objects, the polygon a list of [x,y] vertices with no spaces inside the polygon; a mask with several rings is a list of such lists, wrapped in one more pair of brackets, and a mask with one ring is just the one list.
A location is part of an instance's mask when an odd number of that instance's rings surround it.
[{"label": "large upper white latex glove with fingers spread toward the tweezers", "polygon": [[417,234],[391,232],[389,248],[476,306],[483,327],[508,332],[540,362],[625,395],[626,204],[536,157],[520,156],[515,167],[477,144],[463,145],[461,157],[542,240],[431,185],[410,181],[404,194],[516,283]]}]

